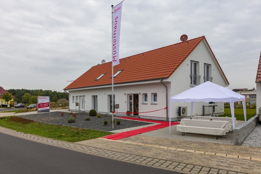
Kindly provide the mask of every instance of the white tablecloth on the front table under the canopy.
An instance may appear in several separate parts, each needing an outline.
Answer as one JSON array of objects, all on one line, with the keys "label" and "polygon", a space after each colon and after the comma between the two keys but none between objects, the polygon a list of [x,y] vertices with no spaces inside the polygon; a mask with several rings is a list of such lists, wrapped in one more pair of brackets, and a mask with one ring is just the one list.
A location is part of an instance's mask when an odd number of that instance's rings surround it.
[{"label": "white tablecloth on the front table under the canopy", "polygon": [[180,120],[180,125],[206,128],[221,128],[226,129],[226,132],[232,131],[229,121],[210,121],[210,118],[209,120],[183,118]]}]

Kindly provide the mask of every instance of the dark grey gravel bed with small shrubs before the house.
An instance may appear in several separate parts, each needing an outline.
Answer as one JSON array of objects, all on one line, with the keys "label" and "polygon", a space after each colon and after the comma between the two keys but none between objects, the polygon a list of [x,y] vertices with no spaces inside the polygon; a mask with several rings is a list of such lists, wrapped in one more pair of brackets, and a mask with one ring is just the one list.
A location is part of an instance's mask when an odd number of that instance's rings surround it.
[{"label": "dark grey gravel bed with small shrubs before the house", "polygon": [[[143,126],[147,124],[153,124],[153,123],[114,118],[115,119],[114,129],[112,129],[111,116],[108,115],[102,115],[102,118],[97,118],[96,116],[93,116],[91,117],[91,120],[84,120],[86,116],[89,117],[89,113],[77,113],[75,122],[68,123],[67,119],[70,118],[72,115],[70,115],[68,112],[64,112],[64,115],[62,117],[61,113],[62,112],[57,111],[57,112],[51,112],[50,116],[48,112],[48,113],[39,113],[38,116],[37,114],[30,114],[30,115],[21,115],[18,117],[35,120],[38,122],[44,122],[44,123],[62,124],[67,126],[74,126],[74,127],[87,128],[87,129],[98,129],[104,131],[112,131],[118,129],[132,128],[136,126]],[[108,121],[108,124],[106,126],[103,124],[105,120]],[[120,125],[116,124],[117,120],[121,121]]]}]

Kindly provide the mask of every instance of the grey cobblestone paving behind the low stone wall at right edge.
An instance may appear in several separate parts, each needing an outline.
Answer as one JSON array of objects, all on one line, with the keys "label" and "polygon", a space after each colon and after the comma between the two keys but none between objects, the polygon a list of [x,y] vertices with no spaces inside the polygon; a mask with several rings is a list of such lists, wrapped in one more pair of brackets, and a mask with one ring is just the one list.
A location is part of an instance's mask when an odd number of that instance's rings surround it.
[{"label": "grey cobblestone paving behind the low stone wall at right edge", "polygon": [[261,124],[252,130],[241,146],[261,147]]}]

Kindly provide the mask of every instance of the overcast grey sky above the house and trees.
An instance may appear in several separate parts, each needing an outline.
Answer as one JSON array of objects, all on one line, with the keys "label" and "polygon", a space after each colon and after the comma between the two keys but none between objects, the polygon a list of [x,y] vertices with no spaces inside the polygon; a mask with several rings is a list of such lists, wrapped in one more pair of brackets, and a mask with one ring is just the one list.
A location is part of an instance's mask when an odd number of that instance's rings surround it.
[{"label": "overcast grey sky above the house and trees", "polygon": [[[111,5],[120,1],[0,0],[0,86],[63,91],[111,61]],[[261,1],[131,1],[120,58],[205,35],[230,83],[256,87]]]}]

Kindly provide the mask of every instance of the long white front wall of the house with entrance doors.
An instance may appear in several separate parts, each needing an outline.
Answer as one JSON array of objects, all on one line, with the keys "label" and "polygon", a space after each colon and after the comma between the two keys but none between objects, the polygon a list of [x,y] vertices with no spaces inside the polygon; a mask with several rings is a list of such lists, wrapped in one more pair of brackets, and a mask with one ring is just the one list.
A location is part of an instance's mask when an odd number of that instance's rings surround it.
[{"label": "long white front wall of the house with entrance doors", "polygon": [[[164,82],[168,86],[170,82]],[[148,94],[148,103],[142,104],[143,93]],[[157,93],[157,104],[151,104],[151,93]],[[126,94],[126,95],[125,95]],[[126,112],[129,110],[128,95],[129,94],[139,94],[139,112],[147,112],[158,110],[166,107],[166,88],[160,83],[146,83],[140,85],[126,85],[126,86],[114,86],[115,104],[119,104],[120,108],[118,112]],[[92,96],[97,95],[97,112],[109,113],[109,95],[111,95],[111,87],[94,88],[94,89],[83,89],[83,90],[73,90],[69,91],[70,96],[70,108],[69,110],[75,110],[75,103],[72,102],[72,96],[84,96],[84,110],[86,112],[93,109],[92,107]],[[170,97],[170,96],[169,96]],[[78,110],[78,106],[76,107]],[[125,115],[125,114],[122,114]],[[162,117],[166,119],[166,110],[140,113],[139,116],[148,117]],[[157,118],[155,118],[157,119]],[[161,118],[158,118],[161,119]]]}]

